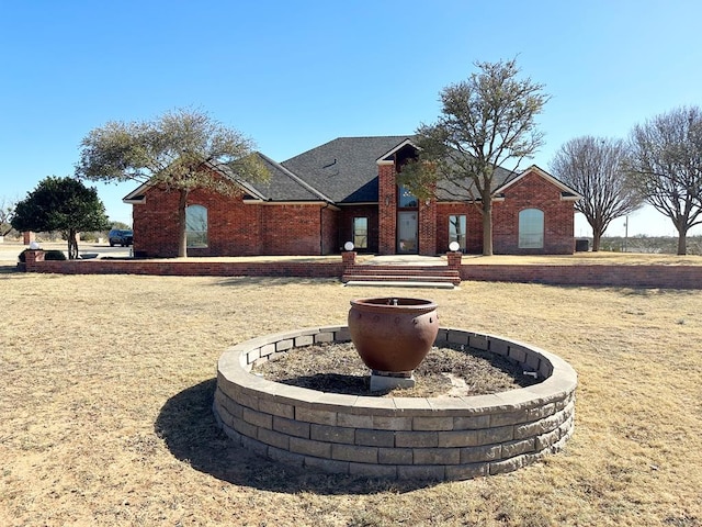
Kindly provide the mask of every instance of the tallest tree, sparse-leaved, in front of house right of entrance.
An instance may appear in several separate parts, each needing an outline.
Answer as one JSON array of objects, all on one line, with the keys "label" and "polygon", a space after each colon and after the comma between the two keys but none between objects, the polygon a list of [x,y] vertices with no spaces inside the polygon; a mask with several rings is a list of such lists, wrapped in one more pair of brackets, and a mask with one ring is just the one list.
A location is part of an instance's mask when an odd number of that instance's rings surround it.
[{"label": "tallest tree, sparse-leaved, in front of house right of entrance", "polygon": [[514,59],[475,65],[479,72],[441,91],[441,115],[417,130],[419,157],[400,178],[418,195],[443,191],[476,204],[483,215],[483,254],[490,256],[496,172],[517,170],[543,144],[535,117],[550,97],[543,85],[518,79]]}]

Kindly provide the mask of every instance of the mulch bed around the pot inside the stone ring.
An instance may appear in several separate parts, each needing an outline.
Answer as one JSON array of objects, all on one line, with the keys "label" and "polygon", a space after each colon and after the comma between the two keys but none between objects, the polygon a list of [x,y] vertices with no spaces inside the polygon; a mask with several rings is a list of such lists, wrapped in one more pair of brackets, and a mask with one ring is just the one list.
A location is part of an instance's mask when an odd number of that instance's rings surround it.
[{"label": "mulch bed around the pot inside the stone ring", "polygon": [[321,392],[404,397],[485,395],[539,382],[509,359],[465,346],[432,348],[415,370],[415,388],[384,393],[370,392],[370,370],[352,343],[295,348],[254,365],[253,373]]}]

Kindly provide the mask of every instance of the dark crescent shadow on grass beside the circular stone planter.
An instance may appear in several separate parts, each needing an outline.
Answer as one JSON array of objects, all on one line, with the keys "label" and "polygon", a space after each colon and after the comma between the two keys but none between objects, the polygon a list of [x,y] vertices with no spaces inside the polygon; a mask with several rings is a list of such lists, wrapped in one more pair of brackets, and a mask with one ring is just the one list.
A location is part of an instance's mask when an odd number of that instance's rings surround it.
[{"label": "dark crescent shadow on grass beside the circular stone planter", "polygon": [[235,485],[316,494],[373,494],[409,492],[431,486],[430,481],[383,481],[327,474],[316,469],[290,467],[234,445],[219,429],[212,403],[216,380],[201,382],[167,401],[154,425],[169,450],[193,469]]}]

